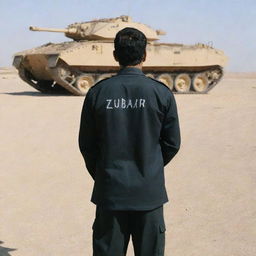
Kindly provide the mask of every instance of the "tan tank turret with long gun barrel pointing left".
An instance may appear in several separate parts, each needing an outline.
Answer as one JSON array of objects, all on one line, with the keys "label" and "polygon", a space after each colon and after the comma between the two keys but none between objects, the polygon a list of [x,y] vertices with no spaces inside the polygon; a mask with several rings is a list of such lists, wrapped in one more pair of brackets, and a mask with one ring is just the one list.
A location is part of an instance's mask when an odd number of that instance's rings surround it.
[{"label": "tan tank turret with long gun barrel pointing left", "polygon": [[159,35],[165,34],[162,30],[154,30],[145,24],[133,22],[129,16],[74,23],[70,24],[66,29],[39,28],[33,26],[29,27],[29,29],[32,31],[65,33],[66,37],[72,38],[75,41],[113,41],[116,33],[125,27],[133,27],[143,31],[149,41],[156,41],[159,39]]}]

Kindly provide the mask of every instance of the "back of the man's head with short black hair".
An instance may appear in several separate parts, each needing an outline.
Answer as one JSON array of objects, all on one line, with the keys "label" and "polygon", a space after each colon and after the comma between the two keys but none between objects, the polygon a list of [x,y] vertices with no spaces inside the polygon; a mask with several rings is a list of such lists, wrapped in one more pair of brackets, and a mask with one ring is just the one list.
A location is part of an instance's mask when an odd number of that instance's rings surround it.
[{"label": "back of the man's head with short black hair", "polygon": [[115,37],[115,57],[122,66],[135,66],[143,61],[147,38],[135,28],[124,28]]}]

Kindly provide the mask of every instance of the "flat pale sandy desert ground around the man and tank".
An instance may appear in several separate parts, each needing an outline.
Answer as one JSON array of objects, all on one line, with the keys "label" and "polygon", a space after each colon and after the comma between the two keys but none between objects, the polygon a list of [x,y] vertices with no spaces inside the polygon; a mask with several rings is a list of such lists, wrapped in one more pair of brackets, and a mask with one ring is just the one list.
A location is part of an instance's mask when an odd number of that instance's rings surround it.
[{"label": "flat pale sandy desert ground around the man and tank", "polygon": [[[176,100],[182,147],[165,169],[165,255],[255,256],[256,79],[227,76]],[[0,102],[0,256],[92,255],[83,97],[42,95],[2,70]]]}]

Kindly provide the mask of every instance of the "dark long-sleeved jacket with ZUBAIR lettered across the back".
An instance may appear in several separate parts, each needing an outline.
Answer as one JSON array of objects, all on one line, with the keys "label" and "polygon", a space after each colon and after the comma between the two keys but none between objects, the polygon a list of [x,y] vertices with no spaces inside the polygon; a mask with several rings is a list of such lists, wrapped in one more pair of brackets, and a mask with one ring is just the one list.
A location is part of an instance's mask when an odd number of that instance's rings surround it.
[{"label": "dark long-sleeved jacket with ZUBAIR lettered across the back", "polygon": [[168,201],[164,165],[180,147],[172,92],[137,68],[97,83],[84,101],[79,146],[95,180],[91,201],[98,212],[161,212]]}]

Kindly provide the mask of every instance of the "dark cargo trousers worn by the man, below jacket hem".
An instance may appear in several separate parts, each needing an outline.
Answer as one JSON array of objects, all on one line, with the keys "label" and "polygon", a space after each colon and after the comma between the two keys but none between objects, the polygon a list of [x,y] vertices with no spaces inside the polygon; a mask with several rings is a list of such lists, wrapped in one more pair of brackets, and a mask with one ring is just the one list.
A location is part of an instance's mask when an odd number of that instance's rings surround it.
[{"label": "dark cargo trousers worn by the man, below jacket hem", "polygon": [[130,237],[135,256],[163,256],[163,206],[150,211],[109,211],[97,206],[93,256],[125,256]]}]

